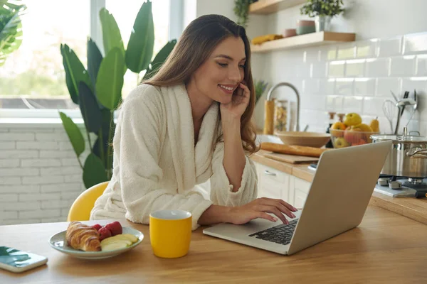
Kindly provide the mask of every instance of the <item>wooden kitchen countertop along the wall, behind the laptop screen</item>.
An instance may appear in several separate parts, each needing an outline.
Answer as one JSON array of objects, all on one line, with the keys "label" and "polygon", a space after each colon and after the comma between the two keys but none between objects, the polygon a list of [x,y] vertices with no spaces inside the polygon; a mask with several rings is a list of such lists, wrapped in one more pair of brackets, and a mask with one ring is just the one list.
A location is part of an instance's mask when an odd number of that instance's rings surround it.
[{"label": "wooden kitchen countertop along the wall, behind the laptop screen", "polygon": [[[315,171],[309,170],[310,164],[290,164],[266,158],[268,151],[260,150],[251,156],[255,162],[268,165],[276,170],[281,170],[297,178],[312,182]],[[402,216],[414,219],[423,224],[427,224],[427,199],[417,199],[415,197],[389,197],[381,193],[374,192],[370,204],[401,214]]]}]

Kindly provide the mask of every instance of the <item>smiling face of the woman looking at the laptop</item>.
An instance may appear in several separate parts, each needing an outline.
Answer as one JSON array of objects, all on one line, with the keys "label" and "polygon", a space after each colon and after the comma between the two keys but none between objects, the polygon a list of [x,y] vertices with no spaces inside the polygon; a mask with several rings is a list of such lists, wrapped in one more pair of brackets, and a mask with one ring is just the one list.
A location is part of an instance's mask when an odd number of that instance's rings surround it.
[{"label": "smiling face of the woman looking at the laptop", "polygon": [[221,41],[209,58],[194,72],[189,85],[199,96],[228,104],[234,90],[244,79],[245,64],[243,40],[230,36]]}]

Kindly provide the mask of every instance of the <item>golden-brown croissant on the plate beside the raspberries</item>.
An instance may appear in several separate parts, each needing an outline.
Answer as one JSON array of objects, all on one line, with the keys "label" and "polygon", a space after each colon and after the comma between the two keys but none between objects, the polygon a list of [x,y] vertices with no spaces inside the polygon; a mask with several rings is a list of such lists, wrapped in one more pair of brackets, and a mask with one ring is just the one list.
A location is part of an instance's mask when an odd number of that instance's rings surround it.
[{"label": "golden-brown croissant on the plate beside the raspberries", "polygon": [[70,222],[65,233],[68,245],[82,251],[100,251],[100,235],[95,228],[80,222]]}]

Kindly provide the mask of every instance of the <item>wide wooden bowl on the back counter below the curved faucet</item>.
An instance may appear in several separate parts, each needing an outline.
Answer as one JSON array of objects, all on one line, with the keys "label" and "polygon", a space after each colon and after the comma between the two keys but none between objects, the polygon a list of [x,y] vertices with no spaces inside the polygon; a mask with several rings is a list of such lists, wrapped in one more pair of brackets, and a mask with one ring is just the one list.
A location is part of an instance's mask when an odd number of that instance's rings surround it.
[{"label": "wide wooden bowl on the back counter below the curved faucet", "polygon": [[330,141],[330,134],[307,132],[307,131],[276,131],[278,136],[285,145],[298,145],[320,148]]}]

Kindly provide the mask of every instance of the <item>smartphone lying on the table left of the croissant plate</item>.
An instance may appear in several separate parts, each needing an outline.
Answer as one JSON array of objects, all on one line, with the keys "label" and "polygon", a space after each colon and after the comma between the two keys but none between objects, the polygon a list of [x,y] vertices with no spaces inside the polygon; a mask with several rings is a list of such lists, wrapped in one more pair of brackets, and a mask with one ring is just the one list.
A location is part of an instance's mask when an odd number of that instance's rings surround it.
[{"label": "smartphone lying on the table left of the croissant plate", "polygon": [[20,251],[9,246],[0,246],[0,268],[6,269],[6,271],[20,273],[43,266],[47,262],[48,258],[46,256]]}]

